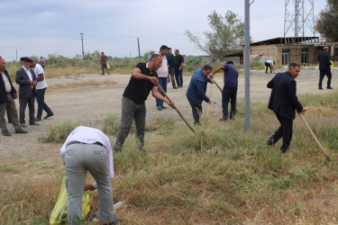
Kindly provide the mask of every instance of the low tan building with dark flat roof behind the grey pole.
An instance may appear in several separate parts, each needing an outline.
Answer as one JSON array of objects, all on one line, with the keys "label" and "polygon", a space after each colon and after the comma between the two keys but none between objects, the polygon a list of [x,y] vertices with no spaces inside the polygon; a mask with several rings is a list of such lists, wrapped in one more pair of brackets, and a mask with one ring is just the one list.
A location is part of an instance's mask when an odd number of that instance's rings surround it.
[{"label": "low tan building with dark flat roof behind the grey pole", "polygon": [[338,43],[319,41],[318,37],[288,37],[252,42],[250,54],[269,56],[277,65],[288,65],[291,62],[315,65],[324,46],[331,47],[331,59],[338,60]]}]

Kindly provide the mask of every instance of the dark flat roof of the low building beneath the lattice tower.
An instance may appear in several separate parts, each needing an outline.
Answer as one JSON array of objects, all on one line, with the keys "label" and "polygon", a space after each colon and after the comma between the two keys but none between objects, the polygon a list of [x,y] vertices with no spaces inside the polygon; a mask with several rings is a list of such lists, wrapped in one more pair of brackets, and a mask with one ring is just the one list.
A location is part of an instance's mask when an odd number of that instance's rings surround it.
[{"label": "dark flat roof of the low building beneath the lattice tower", "polygon": [[274,44],[307,44],[318,42],[318,39],[319,37],[281,37],[252,42],[250,45],[258,46],[258,45],[274,45]]}]

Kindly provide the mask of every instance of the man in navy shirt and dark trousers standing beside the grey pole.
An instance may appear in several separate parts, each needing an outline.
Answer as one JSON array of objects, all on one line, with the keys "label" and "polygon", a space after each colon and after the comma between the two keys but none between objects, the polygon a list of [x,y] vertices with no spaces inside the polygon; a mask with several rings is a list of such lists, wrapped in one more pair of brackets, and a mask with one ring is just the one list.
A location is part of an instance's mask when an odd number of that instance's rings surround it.
[{"label": "man in navy shirt and dark trousers standing beside the grey pole", "polygon": [[228,105],[231,100],[231,112],[230,119],[234,119],[236,113],[236,101],[237,101],[237,87],[238,87],[238,76],[237,69],[233,66],[233,61],[227,61],[223,66],[216,67],[211,77],[214,77],[215,73],[219,70],[224,70],[224,88],[222,92],[222,108],[223,117],[220,121],[227,121],[229,117]]}]

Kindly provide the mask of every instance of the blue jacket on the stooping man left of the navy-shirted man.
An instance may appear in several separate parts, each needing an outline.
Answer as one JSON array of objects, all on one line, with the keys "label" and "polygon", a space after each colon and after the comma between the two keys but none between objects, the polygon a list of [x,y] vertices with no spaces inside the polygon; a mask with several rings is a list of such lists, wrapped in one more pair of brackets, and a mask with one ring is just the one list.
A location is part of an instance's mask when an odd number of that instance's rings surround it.
[{"label": "blue jacket on the stooping man left of the navy-shirted man", "polygon": [[209,103],[210,99],[206,96],[207,82],[210,83],[211,79],[203,74],[202,68],[197,68],[187,87],[187,99],[198,106],[202,105],[203,100]]}]

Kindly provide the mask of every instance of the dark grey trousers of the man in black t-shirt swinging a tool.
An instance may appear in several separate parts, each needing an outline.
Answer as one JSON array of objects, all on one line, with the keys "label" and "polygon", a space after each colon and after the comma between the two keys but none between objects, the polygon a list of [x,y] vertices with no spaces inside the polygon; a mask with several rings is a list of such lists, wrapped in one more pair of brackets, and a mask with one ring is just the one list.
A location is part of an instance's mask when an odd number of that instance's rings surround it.
[{"label": "dark grey trousers of the man in black t-shirt swinging a tool", "polygon": [[145,103],[133,103],[132,100],[122,98],[121,127],[117,134],[116,146],[122,147],[132,128],[132,120],[135,120],[136,139],[139,141],[139,149],[144,146],[144,127],[146,115]]}]

